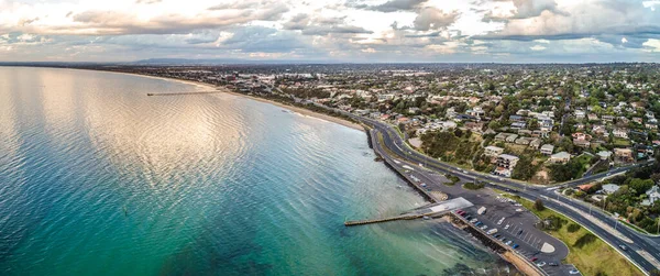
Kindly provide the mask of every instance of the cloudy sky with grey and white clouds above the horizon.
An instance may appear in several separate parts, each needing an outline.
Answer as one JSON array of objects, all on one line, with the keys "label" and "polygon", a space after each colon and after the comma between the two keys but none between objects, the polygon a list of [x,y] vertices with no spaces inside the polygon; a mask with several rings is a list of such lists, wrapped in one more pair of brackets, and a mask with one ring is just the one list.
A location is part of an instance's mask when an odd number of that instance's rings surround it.
[{"label": "cloudy sky with grey and white clouds above the horizon", "polygon": [[660,0],[0,0],[1,62],[660,62]]}]

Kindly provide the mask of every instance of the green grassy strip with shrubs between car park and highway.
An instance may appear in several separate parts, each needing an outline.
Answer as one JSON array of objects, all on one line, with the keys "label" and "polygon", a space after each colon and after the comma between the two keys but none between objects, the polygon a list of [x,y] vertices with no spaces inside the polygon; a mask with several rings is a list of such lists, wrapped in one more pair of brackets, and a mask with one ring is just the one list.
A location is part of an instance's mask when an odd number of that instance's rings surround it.
[{"label": "green grassy strip with shrubs between car park and highway", "polygon": [[[569,225],[575,224],[572,220],[553,210],[546,208],[542,211],[534,209],[534,202],[524,200],[520,197],[503,194],[503,196],[513,198],[528,210],[532,211],[541,220],[549,217],[560,218],[566,221],[558,230],[547,230],[546,232],[569,246],[569,256],[564,260],[566,263],[575,265],[582,275],[610,275],[610,276],[631,276],[644,275],[635,265],[628,262],[617,251],[612,249],[601,239],[591,240],[593,235],[588,230],[580,227],[574,231],[569,231]],[[586,240],[586,242],[585,242]]]}]

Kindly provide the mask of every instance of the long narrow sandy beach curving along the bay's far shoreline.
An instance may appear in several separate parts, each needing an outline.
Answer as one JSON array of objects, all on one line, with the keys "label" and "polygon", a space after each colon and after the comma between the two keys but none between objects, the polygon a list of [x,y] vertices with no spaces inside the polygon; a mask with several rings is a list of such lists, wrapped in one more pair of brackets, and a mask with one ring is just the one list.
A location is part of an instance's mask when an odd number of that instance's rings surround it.
[{"label": "long narrow sandy beach curving along the bay's far shoreline", "polygon": [[277,101],[273,101],[273,100],[268,100],[268,99],[255,97],[255,96],[249,96],[249,95],[244,95],[244,93],[233,92],[233,91],[230,91],[226,87],[216,87],[216,86],[212,86],[212,85],[209,85],[209,84],[197,82],[197,81],[191,81],[191,80],[183,80],[183,79],[174,79],[174,78],[165,78],[165,77],[155,77],[155,76],[148,76],[148,75],[133,74],[133,73],[121,73],[121,74],[129,74],[129,75],[134,75],[134,76],[140,76],[140,77],[156,78],[156,79],[170,80],[170,81],[177,81],[177,82],[183,82],[183,84],[187,84],[187,85],[194,85],[194,86],[205,87],[205,88],[208,88],[209,90],[220,91],[220,92],[223,92],[223,93],[229,93],[229,95],[248,98],[248,99],[255,100],[255,101],[261,101],[261,102],[270,103],[270,104],[277,106],[279,108],[287,109],[287,110],[290,110],[293,112],[299,113],[301,115],[314,117],[314,118],[318,118],[318,119],[321,119],[321,120],[324,120],[324,121],[328,121],[328,122],[338,123],[338,124],[341,124],[343,126],[351,128],[351,129],[354,129],[354,130],[364,131],[364,128],[361,124],[358,124],[358,123],[354,123],[354,122],[350,122],[350,121],[346,121],[346,120],[343,120],[343,119],[340,119],[340,118],[337,118],[337,117],[332,117],[332,115],[328,115],[328,114],[322,114],[322,113],[317,113],[317,112],[314,112],[314,111],[308,110],[308,109],[304,109],[304,108],[299,108],[299,107],[294,107],[294,106],[285,104],[285,103],[282,103],[282,102],[277,102]]}]

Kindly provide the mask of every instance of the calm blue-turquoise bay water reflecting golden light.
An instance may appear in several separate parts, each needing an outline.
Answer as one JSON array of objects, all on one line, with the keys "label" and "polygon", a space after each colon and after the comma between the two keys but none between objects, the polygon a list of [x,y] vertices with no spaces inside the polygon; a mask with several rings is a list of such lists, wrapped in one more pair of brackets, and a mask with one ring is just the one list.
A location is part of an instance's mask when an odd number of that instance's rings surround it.
[{"label": "calm blue-turquoise bay water reflecting golden light", "polygon": [[[497,258],[356,130],[202,87],[0,67],[2,275],[441,275]],[[452,274],[452,273],[449,273]]]}]

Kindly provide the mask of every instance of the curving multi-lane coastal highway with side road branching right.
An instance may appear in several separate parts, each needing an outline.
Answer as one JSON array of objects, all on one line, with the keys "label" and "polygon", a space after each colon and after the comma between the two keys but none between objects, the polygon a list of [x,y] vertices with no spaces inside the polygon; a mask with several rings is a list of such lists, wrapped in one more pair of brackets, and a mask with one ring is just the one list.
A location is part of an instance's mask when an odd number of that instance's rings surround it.
[{"label": "curving multi-lane coastal highway with side road branching right", "polygon": [[[601,239],[603,239],[605,242],[612,245],[615,250],[617,250],[620,254],[632,261],[632,263],[635,263],[638,267],[645,271],[646,274],[648,274],[652,269],[657,269],[658,264],[660,264],[660,247],[658,246],[658,239],[642,235],[624,225],[616,225],[617,222],[612,217],[598,210],[594,210],[594,208],[590,210],[588,206],[571,200],[570,198],[560,196],[559,194],[556,194],[552,189],[548,189],[548,187],[541,188],[539,186],[513,179],[501,178],[476,172],[468,172],[454,165],[440,162],[408,147],[408,145],[400,137],[398,132],[394,130],[393,126],[369,118],[356,117],[353,114],[351,114],[351,117],[367,125],[373,126],[378,133],[382,133],[384,147],[386,147],[389,153],[396,155],[388,156],[389,158],[398,157],[408,161],[413,164],[420,164],[420,166],[437,170],[442,174],[455,175],[461,179],[469,181],[483,180],[488,183],[491,187],[497,189],[513,189],[514,191],[517,191],[517,195],[529,200],[536,200],[539,198],[543,199],[546,207],[551,208],[571,218],[575,222],[580,223],[581,225],[585,227],[586,229],[598,235]],[[578,186],[597,180],[600,178],[607,177],[609,175],[625,173],[634,167],[644,165],[647,164],[616,168],[608,173],[592,175],[588,177],[558,184],[554,187]],[[617,235],[610,233],[612,230],[607,229],[604,225],[610,225],[612,228],[616,227],[616,231],[620,232],[622,235],[627,238],[632,243],[627,243],[626,241],[624,241],[625,239],[619,239]],[[622,244],[625,244],[628,247],[628,250],[623,251],[619,247],[619,245]],[[638,253],[638,251],[646,251],[649,254],[640,254]],[[645,257],[642,256],[642,254],[647,256]]]}]

